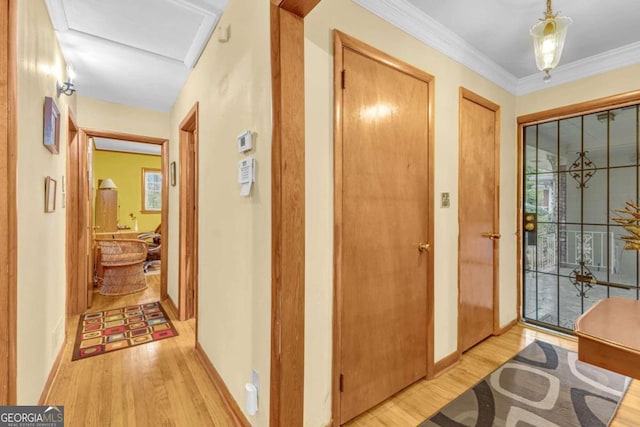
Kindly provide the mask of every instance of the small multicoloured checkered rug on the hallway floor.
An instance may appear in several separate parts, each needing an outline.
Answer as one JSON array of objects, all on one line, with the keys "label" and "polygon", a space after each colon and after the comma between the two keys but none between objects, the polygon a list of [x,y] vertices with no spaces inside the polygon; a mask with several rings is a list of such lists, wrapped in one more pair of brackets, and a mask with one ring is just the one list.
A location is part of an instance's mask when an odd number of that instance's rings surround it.
[{"label": "small multicoloured checkered rug on the hallway floor", "polygon": [[159,301],[80,316],[71,360],[178,335]]}]

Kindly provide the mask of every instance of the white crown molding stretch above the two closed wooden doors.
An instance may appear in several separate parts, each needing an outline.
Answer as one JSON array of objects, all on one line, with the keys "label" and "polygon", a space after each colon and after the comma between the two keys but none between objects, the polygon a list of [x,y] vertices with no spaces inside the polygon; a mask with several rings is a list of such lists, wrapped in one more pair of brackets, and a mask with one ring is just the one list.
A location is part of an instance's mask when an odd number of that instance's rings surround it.
[{"label": "white crown molding stretch above the two closed wooden doors", "polygon": [[515,94],[518,82],[515,76],[411,3],[405,0],[353,0],[353,2]]}]

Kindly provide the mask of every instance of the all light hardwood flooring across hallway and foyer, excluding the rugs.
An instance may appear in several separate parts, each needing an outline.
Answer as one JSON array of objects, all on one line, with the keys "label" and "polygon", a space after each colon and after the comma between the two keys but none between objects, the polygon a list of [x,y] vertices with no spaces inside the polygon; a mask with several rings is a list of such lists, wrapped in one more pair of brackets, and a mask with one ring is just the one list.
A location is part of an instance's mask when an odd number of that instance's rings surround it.
[{"label": "all light hardwood flooring across hallway and foyer, excluding the rugs", "polygon": [[[118,298],[96,294],[89,311],[156,301],[158,278],[148,276],[144,292]],[[194,323],[173,316],[172,321],[180,334],[176,338],[71,362],[78,316],[71,317],[60,370],[45,403],[64,405],[66,425],[72,427],[232,426],[193,350]],[[516,325],[469,350],[438,378],[415,383],[347,426],[416,426],[534,339],[577,350],[571,338]],[[640,381],[632,382],[611,425],[640,425]]]}]

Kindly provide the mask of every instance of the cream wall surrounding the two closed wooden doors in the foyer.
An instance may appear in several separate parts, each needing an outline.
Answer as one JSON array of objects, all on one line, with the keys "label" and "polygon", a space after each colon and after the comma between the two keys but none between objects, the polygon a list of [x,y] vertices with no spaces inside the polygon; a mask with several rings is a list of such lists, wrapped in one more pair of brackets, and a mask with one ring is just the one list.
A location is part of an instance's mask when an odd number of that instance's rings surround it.
[{"label": "cream wall surrounding the two closed wooden doors in the foyer", "polygon": [[515,97],[349,0],[323,0],[305,19],[306,426],[331,419],[333,297],[333,38],[339,29],[435,76],[435,360],[457,349],[458,97],[463,86],[501,106],[500,323],[516,318]]}]

